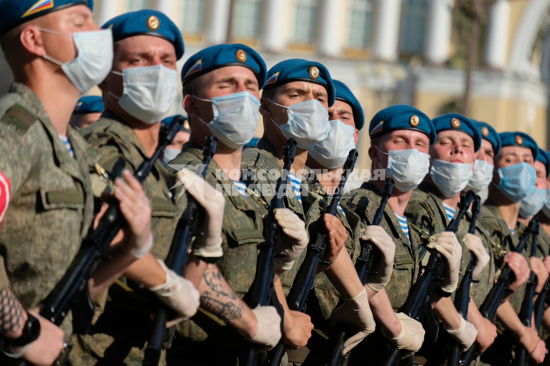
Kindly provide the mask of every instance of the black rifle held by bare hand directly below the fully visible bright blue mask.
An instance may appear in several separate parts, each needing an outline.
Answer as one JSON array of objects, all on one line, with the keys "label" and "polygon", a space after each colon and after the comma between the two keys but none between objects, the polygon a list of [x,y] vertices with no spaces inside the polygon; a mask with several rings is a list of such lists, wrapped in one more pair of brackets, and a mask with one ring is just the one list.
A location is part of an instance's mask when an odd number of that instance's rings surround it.
[{"label": "black rifle held by bare hand directly below the fully visible bright blue mask", "polygon": [[[515,247],[514,251],[516,253],[521,253],[527,243],[527,240],[529,237],[531,237],[531,234],[533,230],[535,230],[535,227],[538,227],[540,223],[538,222],[538,219],[533,218],[527,225],[527,228],[525,229],[525,232],[521,235],[521,238],[519,239],[518,246]],[[514,273],[506,264],[502,271],[500,272],[500,275],[498,276],[497,283],[493,285],[491,288],[491,291],[489,291],[489,294],[485,297],[485,300],[483,300],[483,303],[480,306],[480,313],[483,317],[491,320],[491,322],[494,321],[494,317],[497,315],[497,309],[500,306],[500,303],[502,302],[502,298],[504,296],[504,291],[510,286],[514,279]],[[474,360],[475,357],[477,357],[478,353],[478,346],[477,344],[473,344],[469,350],[464,352],[460,359],[460,365],[462,366],[469,366],[470,363]]]}]

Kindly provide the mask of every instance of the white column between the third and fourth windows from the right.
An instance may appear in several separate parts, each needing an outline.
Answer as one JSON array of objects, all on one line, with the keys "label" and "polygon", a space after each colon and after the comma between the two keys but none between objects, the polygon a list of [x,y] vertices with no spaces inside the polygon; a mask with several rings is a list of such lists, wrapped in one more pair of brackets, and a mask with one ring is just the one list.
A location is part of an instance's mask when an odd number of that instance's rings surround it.
[{"label": "white column between the third and fourth windows from the right", "polygon": [[[262,43],[268,52],[283,52],[287,47],[288,31],[281,29],[281,0],[267,0],[262,21]],[[286,5],[286,4],[285,4]]]}]

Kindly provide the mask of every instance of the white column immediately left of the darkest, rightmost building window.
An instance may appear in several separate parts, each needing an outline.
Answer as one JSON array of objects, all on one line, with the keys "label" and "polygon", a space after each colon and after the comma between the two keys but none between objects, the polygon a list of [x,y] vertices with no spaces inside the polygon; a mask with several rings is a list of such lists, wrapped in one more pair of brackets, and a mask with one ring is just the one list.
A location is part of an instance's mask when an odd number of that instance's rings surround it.
[{"label": "white column immediately left of the darkest, rightmost building window", "polygon": [[383,61],[397,59],[401,0],[376,1],[376,32],[373,47],[375,58]]}]

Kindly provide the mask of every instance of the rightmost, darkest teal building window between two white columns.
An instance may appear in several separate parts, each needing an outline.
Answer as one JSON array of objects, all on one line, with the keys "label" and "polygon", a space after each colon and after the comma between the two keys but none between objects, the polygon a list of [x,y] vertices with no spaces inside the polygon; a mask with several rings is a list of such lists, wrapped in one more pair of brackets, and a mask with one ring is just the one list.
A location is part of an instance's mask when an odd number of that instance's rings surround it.
[{"label": "rightmost, darkest teal building window between two white columns", "polygon": [[401,13],[400,50],[404,54],[419,54],[424,49],[427,0],[403,0]]}]

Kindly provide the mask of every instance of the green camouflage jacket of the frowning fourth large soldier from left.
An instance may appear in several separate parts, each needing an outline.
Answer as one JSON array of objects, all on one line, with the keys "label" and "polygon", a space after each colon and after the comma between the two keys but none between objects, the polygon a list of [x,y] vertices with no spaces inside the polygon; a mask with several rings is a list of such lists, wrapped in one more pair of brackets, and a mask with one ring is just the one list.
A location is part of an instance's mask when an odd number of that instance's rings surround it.
[{"label": "green camouflage jacket of the frowning fourth large soldier from left", "polygon": [[[249,190],[254,192],[253,198],[267,207],[275,194],[275,185],[277,179],[281,176],[283,166],[275,155],[273,148],[263,138],[261,138],[255,148],[248,148],[243,151],[241,161],[243,170],[243,181],[248,185]],[[304,190],[301,191],[305,195]],[[288,207],[305,222],[304,208],[296,197],[290,182],[288,182],[287,195],[284,198],[284,206]],[[305,251],[302,256],[294,262],[294,266],[281,276],[281,284],[285,296],[288,295],[296,273],[298,272],[298,263],[303,261]]]}]

